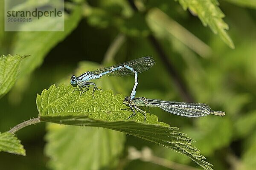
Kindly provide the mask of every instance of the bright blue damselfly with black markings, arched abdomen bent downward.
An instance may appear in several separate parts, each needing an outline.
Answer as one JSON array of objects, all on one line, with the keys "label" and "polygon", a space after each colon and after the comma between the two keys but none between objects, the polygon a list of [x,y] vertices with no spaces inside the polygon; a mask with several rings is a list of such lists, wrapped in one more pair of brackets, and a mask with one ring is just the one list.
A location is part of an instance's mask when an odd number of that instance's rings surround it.
[{"label": "bright blue damselfly with black markings, arched abdomen bent downward", "polygon": [[123,77],[134,74],[135,84],[130,96],[131,99],[134,99],[138,85],[138,73],[148,70],[152,67],[152,65],[154,65],[154,59],[152,57],[142,57],[128,62],[123,62],[121,64],[113,65],[111,67],[99,68],[95,71],[87,71],[79,77],[72,75],[70,78],[70,83],[74,87],[78,86],[78,88],[76,88],[74,91],[82,91],[81,94],[87,91],[90,85],[93,85],[94,93],[94,91],[96,89],[99,90],[99,88],[94,82],[88,82],[91,79],[99,79],[103,75],[111,77]]}]

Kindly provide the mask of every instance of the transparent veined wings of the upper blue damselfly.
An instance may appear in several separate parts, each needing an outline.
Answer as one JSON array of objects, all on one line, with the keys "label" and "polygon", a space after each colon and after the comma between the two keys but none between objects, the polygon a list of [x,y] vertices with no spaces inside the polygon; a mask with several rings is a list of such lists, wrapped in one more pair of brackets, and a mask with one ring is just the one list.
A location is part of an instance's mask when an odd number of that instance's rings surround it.
[{"label": "transparent veined wings of the upper blue damselfly", "polygon": [[[152,65],[154,65],[154,59],[153,57],[142,57],[142,58],[134,59],[131,61],[123,62],[121,64],[112,65],[111,67],[99,68],[95,71],[91,71],[91,73],[94,75],[100,74],[105,71],[109,71],[112,68],[116,68],[122,65],[128,65],[138,73],[141,73],[143,71],[148,70],[149,68],[152,67]],[[111,77],[123,77],[123,76],[129,76],[129,75],[134,75],[134,72],[128,70],[127,68],[121,68],[119,70],[106,74],[106,76],[111,76]]]}]

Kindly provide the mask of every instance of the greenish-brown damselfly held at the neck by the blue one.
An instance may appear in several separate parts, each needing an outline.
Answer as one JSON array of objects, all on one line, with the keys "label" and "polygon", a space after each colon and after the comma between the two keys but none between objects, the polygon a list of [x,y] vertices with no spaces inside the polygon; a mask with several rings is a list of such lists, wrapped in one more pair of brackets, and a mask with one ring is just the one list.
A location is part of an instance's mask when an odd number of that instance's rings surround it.
[{"label": "greenish-brown damselfly held at the neck by the blue one", "polygon": [[131,114],[128,119],[136,115],[134,111],[135,108],[137,111],[140,111],[145,116],[144,122],[146,120],[146,112],[138,108],[140,106],[159,107],[170,113],[187,117],[200,117],[207,116],[209,114],[214,114],[218,116],[225,115],[225,112],[223,111],[212,111],[209,105],[204,103],[172,102],[160,99],[147,99],[145,97],[131,99],[129,96],[126,96],[123,102],[125,105],[128,105],[133,111],[133,114]]}]

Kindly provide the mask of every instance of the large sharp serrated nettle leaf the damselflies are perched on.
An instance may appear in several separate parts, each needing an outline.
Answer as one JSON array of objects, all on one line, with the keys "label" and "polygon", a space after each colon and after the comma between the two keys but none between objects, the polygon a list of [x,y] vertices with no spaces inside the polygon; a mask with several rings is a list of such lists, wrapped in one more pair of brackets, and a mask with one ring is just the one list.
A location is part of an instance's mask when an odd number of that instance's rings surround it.
[{"label": "large sharp serrated nettle leaf the damselflies are perched on", "polygon": [[188,156],[206,170],[212,170],[200,151],[192,146],[192,139],[186,134],[178,132],[177,127],[158,122],[157,116],[144,116],[137,113],[133,119],[127,120],[131,115],[128,106],[123,104],[124,96],[113,95],[112,91],[96,91],[95,98],[92,90],[80,95],[79,91],[73,93],[73,86],[52,85],[44,89],[37,96],[36,103],[41,121],[54,122],[64,125],[105,127],[112,130],[128,133],[156,144],[166,146]]}]

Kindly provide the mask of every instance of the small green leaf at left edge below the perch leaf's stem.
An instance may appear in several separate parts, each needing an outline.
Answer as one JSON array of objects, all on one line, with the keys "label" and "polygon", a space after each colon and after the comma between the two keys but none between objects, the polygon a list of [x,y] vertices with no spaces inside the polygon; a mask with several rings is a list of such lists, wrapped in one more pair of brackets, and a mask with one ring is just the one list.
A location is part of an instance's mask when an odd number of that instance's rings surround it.
[{"label": "small green leaf at left edge below the perch leaf's stem", "polygon": [[2,151],[26,156],[26,150],[20,144],[20,140],[14,134],[8,132],[0,132],[0,152]]}]

